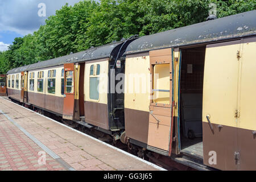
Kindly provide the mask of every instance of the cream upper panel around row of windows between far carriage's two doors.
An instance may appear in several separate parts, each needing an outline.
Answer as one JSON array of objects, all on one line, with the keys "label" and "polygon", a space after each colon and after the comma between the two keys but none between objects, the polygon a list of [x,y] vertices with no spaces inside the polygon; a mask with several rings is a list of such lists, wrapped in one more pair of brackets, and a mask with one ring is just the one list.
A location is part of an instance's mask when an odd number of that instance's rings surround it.
[{"label": "cream upper panel around row of windows between far carriage's two doors", "polygon": [[[34,93],[41,93],[41,94],[47,94],[50,96],[57,96],[57,97],[64,97],[63,95],[61,95],[61,71],[62,69],[64,69],[63,66],[60,67],[52,67],[52,68],[47,68],[47,69],[38,69],[36,71],[29,71],[28,72],[28,92],[34,92]],[[52,93],[48,93],[48,71],[51,70],[56,70],[56,77],[55,78],[55,94]],[[44,77],[43,77],[43,92],[38,92],[38,80],[40,78],[38,78],[38,72],[44,72]],[[30,90],[31,89],[31,85],[30,85],[30,73],[35,73],[35,77],[34,77],[34,91]]]}]

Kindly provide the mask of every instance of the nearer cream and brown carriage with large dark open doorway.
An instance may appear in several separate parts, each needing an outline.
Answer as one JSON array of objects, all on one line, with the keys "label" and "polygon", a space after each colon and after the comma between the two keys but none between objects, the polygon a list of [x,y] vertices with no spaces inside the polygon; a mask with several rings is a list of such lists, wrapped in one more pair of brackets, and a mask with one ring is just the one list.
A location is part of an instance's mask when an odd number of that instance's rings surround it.
[{"label": "nearer cream and brown carriage with large dark open doorway", "polygon": [[255,17],[256,10],[131,42],[127,142],[198,169],[255,170]]}]

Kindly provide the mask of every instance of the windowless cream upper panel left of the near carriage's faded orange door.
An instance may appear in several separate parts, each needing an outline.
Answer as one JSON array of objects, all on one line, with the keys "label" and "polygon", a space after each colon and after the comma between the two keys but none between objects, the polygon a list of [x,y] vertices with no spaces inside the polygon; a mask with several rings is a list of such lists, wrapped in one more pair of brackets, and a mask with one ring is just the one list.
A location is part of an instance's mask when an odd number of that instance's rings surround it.
[{"label": "windowless cream upper panel left of the near carriage's faded orange door", "polygon": [[149,111],[150,88],[150,56],[148,53],[127,56],[125,63],[125,108]]}]

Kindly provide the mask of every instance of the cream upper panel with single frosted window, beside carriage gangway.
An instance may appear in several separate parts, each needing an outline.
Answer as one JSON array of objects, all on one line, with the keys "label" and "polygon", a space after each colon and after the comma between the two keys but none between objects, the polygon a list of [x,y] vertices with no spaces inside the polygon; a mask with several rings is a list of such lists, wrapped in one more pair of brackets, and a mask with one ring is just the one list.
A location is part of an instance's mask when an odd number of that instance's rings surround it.
[{"label": "cream upper panel with single frosted window, beside carriage gangway", "polygon": [[[94,70],[94,75],[90,76],[90,71],[92,65],[95,65],[96,70]],[[100,65],[100,75],[97,75],[97,65]],[[89,102],[97,102],[100,104],[108,104],[108,83],[109,83],[109,61],[100,61],[100,62],[95,62],[95,63],[86,63],[85,64],[85,75],[84,75],[84,93],[85,101]],[[99,94],[96,93],[96,80],[99,79],[98,81],[98,92]],[[90,85],[91,84],[91,85]],[[98,100],[97,99],[92,99],[90,98],[90,86],[91,86],[91,96],[98,95]],[[92,88],[93,87],[93,88]]]}]

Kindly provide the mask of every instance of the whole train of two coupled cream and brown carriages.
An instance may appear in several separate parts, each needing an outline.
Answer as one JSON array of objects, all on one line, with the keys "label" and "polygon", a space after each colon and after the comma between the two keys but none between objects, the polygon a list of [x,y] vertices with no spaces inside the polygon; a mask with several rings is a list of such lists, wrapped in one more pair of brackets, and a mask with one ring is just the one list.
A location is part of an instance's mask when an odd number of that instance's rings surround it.
[{"label": "whole train of two coupled cream and brown carriages", "polygon": [[255,16],[133,36],[15,68],[7,93],[120,139],[141,157],[255,170]]}]

